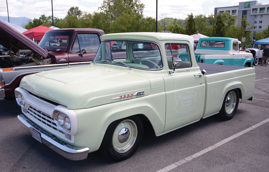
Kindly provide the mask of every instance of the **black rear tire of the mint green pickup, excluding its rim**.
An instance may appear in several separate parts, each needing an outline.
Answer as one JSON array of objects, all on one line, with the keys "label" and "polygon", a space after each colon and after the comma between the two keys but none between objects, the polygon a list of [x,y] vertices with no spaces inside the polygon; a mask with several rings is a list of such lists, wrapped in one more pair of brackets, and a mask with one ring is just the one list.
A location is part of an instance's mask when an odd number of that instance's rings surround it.
[{"label": "black rear tire of the mint green pickup, excluding its rim", "polygon": [[[227,98],[228,94],[230,92],[232,92],[232,91],[234,91],[236,93],[236,106],[235,106],[235,108],[234,108],[234,110],[233,110],[232,113],[227,114],[226,109],[225,109],[225,102],[226,102],[226,98]],[[224,120],[230,120],[230,119],[232,119],[233,116],[234,116],[234,114],[236,113],[236,110],[238,108],[238,104],[239,104],[239,91],[238,91],[238,89],[233,89],[233,90],[228,91],[225,94],[225,97],[224,97],[224,100],[223,100],[223,103],[222,103],[222,107],[221,107],[221,110],[220,110],[220,113],[219,113],[220,114],[220,117],[222,119],[224,119]]]}]

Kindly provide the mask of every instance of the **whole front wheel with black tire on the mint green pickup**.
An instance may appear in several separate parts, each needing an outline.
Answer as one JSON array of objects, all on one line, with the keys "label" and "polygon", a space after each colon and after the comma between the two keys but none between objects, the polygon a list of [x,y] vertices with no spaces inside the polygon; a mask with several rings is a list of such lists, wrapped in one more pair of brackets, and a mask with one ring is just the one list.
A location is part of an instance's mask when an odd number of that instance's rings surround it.
[{"label": "whole front wheel with black tire on the mint green pickup", "polygon": [[135,153],[142,137],[143,122],[139,117],[116,120],[106,129],[100,150],[106,158],[122,161]]}]

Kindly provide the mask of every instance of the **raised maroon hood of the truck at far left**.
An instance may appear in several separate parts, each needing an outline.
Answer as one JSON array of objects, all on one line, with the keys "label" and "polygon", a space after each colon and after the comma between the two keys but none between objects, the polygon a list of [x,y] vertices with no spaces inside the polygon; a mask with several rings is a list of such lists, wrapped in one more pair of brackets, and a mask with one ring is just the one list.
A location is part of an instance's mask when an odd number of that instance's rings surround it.
[{"label": "raised maroon hood of the truck at far left", "polygon": [[6,24],[3,20],[0,20],[0,33],[0,44],[7,49],[12,47],[11,51],[15,53],[20,49],[29,49],[32,52],[40,54],[44,58],[48,55],[48,52],[45,49],[12,28],[10,25]]}]

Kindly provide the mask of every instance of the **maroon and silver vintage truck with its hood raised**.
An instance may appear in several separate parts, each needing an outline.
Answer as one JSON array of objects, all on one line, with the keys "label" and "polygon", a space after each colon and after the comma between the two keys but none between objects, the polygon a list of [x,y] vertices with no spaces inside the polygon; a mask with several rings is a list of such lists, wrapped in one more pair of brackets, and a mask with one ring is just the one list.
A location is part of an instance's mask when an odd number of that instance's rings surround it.
[{"label": "maroon and silver vintage truck with its hood raised", "polygon": [[85,66],[91,63],[100,45],[103,30],[55,29],[47,31],[39,45],[0,20],[0,44],[25,55],[0,58],[0,98],[11,99],[21,79],[37,72]]}]

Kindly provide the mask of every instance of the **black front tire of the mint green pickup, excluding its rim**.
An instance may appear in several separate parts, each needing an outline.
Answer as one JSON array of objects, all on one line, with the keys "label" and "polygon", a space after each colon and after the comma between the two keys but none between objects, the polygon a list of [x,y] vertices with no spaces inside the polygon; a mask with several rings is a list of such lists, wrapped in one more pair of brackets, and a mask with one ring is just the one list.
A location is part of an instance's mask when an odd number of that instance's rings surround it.
[{"label": "black front tire of the mint green pickup, excluding its rim", "polygon": [[[119,153],[113,147],[112,137],[116,127],[124,120],[132,120],[135,122],[137,126],[137,138],[134,145],[130,148],[130,150],[128,150],[125,153]],[[105,136],[101,144],[101,151],[106,158],[112,161],[122,161],[124,159],[129,158],[135,153],[135,151],[139,147],[142,137],[143,137],[143,122],[142,120],[140,120],[139,117],[130,116],[120,120],[116,120],[112,122],[106,130]]]}]

